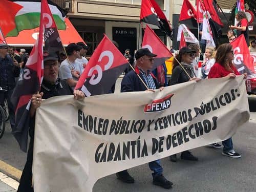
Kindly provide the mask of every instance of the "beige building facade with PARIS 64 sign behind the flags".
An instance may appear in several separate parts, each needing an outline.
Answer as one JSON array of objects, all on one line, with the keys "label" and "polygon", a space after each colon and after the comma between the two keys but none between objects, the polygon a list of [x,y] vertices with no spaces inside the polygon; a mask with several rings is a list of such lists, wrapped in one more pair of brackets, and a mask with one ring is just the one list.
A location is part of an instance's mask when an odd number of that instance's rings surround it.
[{"label": "beige building facade with PARIS 64 sign behind the flags", "polygon": [[[133,55],[134,50],[141,45],[143,30],[139,23],[141,0],[52,0],[62,8],[68,8],[68,17],[79,32],[81,37],[90,46],[89,54],[92,54],[98,43],[106,34],[111,40],[119,44],[119,49],[123,53],[125,49],[130,49]],[[165,13],[166,17],[173,24],[174,33],[178,31],[178,22],[183,0],[155,0]],[[189,0],[196,8],[196,0]],[[227,3],[228,2],[228,3]],[[237,0],[217,0],[223,9],[225,16],[229,19],[230,10]],[[226,32],[230,25],[222,14],[224,23],[222,42],[227,40]],[[254,22],[255,24],[255,22]],[[252,24],[253,25],[253,24]],[[144,26],[145,27],[145,26]],[[170,41],[163,33],[152,26],[162,41],[169,47],[174,45],[177,49],[177,41]],[[197,29],[192,32],[198,36]],[[250,36],[255,37],[255,30],[250,31]]]}]

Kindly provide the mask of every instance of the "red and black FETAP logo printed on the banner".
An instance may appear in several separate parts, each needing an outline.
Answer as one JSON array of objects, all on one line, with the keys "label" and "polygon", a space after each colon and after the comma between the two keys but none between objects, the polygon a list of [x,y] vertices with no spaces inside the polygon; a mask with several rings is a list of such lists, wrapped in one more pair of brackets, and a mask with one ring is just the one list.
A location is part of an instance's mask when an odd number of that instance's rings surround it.
[{"label": "red and black FETAP logo printed on the banner", "polygon": [[170,98],[172,98],[173,95],[174,94],[169,94],[162,99],[154,100],[152,103],[146,104],[144,112],[159,112],[170,108]]}]

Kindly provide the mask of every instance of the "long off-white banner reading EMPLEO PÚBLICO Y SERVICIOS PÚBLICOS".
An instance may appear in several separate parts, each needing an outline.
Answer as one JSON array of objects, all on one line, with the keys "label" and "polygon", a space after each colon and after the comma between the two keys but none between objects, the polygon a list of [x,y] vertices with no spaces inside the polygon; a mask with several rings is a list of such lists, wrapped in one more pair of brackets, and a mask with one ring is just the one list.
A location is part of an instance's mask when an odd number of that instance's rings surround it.
[{"label": "long off-white banner reading EMPLEO P\u00daBLICO Y SERVICIOS P\u00daBLICOS", "polygon": [[34,190],[91,192],[104,176],[231,137],[248,110],[242,76],[47,99],[36,112]]}]

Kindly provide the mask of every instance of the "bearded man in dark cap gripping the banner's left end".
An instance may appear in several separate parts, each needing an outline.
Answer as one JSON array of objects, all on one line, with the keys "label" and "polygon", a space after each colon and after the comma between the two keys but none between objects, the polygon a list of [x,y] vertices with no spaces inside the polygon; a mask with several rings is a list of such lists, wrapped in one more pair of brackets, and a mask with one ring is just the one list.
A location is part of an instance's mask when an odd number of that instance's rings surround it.
[{"label": "bearded man in dark cap gripping the banner's left end", "polygon": [[35,94],[31,99],[30,108],[30,126],[29,135],[30,143],[27,155],[27,161],[23,169],[22,177],[20,178],[18,192],[32,192],[32,163],[33,163],[33,147],[34,147],[34,127],[35,127],[35,111],[41,105],[42,99],[48,99],[60,95],[72,95],[75,99],[84,98],[83,92],[73,90],[69,87],[65,80],[58,78],[59,63],[56,53],[44,52],[44,79],[42,80],[40,94]]}]

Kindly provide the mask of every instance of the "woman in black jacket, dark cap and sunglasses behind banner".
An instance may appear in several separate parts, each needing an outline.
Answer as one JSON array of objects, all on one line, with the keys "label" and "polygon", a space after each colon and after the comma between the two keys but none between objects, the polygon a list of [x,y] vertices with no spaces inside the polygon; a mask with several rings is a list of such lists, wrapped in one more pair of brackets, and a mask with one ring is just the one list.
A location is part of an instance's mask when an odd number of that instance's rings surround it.
[{"label": "woman in black jacket, dark cap and sunglasses behind banner", "polygon": [[[179,54],[176,55],[176,58],[181,63],[182,67],[186,70],[187,73],[179,65],[178,61],[174,60],[173,73],[172,73],[172,77],[170,78],[169,86],[182,83],[182,82],[187,82],[189,80],[198,80],[198,78],[196,78],[196,74],[193,71],[193,66],[191,66],[191,63],[195,58],[195,53],[196,51],[193,51],[187,47],[183,47],[179,51]],[[186,160],[192,160],[192,161],[198,160],[198,158],[193,156],[191,152],[189,152],[188,150],[182,152],[180,158],[186,159]],[[171,155],[170,161],[176,162],[177,155],[176,154]]]}]

